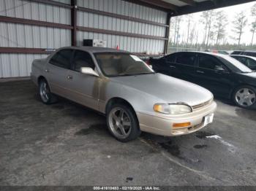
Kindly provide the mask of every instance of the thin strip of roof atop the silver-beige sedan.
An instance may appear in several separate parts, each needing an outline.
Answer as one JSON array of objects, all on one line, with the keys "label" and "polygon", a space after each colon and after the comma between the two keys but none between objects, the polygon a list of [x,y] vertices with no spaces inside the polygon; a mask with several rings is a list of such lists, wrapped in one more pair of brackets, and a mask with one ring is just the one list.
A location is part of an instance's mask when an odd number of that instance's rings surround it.
[{"label": "thin strip of roof atop the silver-beige sedan", "polygon": [[127,52],[125,50],[116,50],[114,48],[108,48],[108,47],[61,47],[59,50],[62,49],[74,49],[74,50],[83,50],[86,52],[91,52],[91,53],[95,53],[95,52]]}]

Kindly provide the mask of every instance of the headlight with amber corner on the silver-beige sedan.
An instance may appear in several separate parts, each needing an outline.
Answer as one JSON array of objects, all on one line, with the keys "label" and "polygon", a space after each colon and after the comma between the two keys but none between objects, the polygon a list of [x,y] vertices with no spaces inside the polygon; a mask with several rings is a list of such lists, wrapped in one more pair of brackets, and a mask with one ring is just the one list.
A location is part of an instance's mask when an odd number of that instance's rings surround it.
[{"label": "headlight with amber corner on the silver-beige sedan", "polygon": [[187,114],[192,112],[192,108],[184,104],[154,104],[154,111],[162,114]]}]

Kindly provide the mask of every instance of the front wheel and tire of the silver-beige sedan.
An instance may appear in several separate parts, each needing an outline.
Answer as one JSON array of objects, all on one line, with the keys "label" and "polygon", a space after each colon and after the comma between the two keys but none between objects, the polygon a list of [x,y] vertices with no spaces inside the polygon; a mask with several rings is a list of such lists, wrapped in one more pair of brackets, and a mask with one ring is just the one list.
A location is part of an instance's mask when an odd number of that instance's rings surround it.
[{"label": "front wheel and tire of the silver-beige sedan", "polygon": [[110,133],[121,142],[131,141],[140,136],[140,128],[135,112],[124,104],[110,106],[107,113]]}]

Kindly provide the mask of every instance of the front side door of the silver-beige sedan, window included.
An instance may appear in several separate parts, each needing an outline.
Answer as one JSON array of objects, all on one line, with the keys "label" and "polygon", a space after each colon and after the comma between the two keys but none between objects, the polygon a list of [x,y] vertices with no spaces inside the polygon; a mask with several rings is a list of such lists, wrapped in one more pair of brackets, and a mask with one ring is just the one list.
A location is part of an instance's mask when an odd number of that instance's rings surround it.
[{"label": "front side door of the silver-beige sedan, window included", "polygon": [[75,50],[71,70],[68,71],[69,98],[92,109],[98,109],[100,77],[82,74],[82,67],[95,70],[94,61],[88,52]]}]

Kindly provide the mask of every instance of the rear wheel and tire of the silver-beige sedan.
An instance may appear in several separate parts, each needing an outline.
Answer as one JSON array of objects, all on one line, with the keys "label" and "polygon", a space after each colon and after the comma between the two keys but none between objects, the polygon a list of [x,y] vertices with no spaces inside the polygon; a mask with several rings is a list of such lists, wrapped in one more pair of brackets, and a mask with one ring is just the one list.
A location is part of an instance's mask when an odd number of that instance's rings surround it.
[{"label": "rear wheel and tire of the silver-beige sedan", "polygon": [[45,79],[39,81],[39,96],[44,104],[53,104],[57,101],[56,95],[50,92],[50,87]]}]

